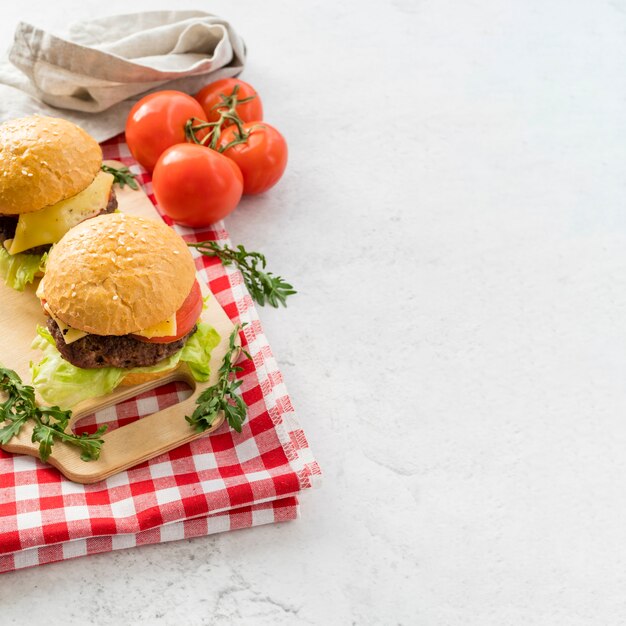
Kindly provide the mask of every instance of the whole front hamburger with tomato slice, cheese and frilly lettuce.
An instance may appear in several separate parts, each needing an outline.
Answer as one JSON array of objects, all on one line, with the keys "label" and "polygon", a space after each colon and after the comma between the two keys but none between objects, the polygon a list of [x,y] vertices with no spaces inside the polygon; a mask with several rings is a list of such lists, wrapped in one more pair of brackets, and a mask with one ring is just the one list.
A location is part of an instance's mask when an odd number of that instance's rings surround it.
[{"label": "whole front hamburger with tomato slice, cheese and frilly lettuce", "polygon": [[160,220],[114,213],[80,223],[50,251],[37,295],[46,325],[33,345],[44,358],[31,374],[50,404],[71,408],[181,361],[209,378],[220,337],[200,319],[189,248]]}]

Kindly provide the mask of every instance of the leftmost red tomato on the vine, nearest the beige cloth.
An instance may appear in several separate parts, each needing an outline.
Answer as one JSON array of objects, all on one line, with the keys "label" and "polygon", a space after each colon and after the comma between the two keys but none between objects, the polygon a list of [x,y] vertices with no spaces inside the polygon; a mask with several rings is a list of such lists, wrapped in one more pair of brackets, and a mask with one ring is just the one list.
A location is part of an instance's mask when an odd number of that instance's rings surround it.
[{"label": "leftmost red tomato on the vine, nearest the beige cloth", "polygon": [[204,120],[197,100],[182,91],[157,91],[139,100],[126,120],[126,143],[135,159],[152,170],[161,154],[185,141],[185,123]]}]

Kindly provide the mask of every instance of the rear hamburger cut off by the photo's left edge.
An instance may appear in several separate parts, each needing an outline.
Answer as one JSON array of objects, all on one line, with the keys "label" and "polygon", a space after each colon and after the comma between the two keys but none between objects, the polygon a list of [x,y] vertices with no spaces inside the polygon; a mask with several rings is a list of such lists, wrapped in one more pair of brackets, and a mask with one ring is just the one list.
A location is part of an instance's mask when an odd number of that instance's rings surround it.
[{"label": "rear hamburger cut off by the photo's left edge", "polygon": [[117,208],[102,150],[82,128],[30,116],[0,125],[0,273],[23,290],[73,226]]}]

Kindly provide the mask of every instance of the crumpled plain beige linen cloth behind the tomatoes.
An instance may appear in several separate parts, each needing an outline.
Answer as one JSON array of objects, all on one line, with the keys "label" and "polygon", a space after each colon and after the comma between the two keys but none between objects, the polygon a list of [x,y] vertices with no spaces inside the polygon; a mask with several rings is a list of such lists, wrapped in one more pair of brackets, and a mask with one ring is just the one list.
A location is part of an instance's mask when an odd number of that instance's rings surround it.
[{"label": "crumpled plain beige linen cloth behind the tomatoes", "polygon": [[21,22],[8,60],[0,63],[0,121],[28,113],[58,116],[60,108],[103,141],[124,129],[145,93],[193,93],[239,74],[245,58],[234,28],[204,11],[87,20],[71,25],[65,37]]}]

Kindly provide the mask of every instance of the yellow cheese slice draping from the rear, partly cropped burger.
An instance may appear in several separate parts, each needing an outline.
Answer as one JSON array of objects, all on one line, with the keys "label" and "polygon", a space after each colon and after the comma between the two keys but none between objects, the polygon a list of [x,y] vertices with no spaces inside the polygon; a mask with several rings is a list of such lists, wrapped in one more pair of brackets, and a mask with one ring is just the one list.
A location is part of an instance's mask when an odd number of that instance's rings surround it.
[{"label": "yellow cheese slice draping from the rear, partly cropped burger", "polygon": [[40,211],[22,213],[9,254],[56,243],[70,228],[106,208],[112,186],[113,175],[100,172],[89,187],[75,196]]}]

